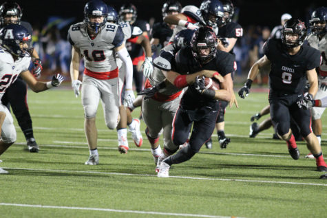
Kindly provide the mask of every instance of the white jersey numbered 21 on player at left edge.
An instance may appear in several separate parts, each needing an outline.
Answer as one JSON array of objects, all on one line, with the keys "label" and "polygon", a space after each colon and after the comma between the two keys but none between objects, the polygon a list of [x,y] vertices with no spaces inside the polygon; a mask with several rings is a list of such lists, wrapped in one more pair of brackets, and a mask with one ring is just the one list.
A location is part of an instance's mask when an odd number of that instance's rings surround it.
[{"label": "white jersey numbered 21 on player at left edge", "polygon": [[14,83],[19,74],[28,70],[30,61],[30,56],[25,56],[14,61],[12,54],[0,46],[0,99],[5,94],[6,89]]}]

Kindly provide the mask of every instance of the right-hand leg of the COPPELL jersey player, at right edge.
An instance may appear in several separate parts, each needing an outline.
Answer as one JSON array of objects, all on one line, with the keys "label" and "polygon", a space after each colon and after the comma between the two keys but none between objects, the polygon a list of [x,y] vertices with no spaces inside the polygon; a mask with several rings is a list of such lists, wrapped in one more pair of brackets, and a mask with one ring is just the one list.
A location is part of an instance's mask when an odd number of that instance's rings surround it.
[{"label": "right-hand leg of the COPPELL jersey player, at right edge", "polygon": [[308,150],[316,158],[317,170],[327,171],[327,165],[322,155],[319,140],[317,139],[317,136],[313,133],[310,127],[310,111],[299,109],[295,104],[292,107],[292,116],[301,130],[301,135],[304,135],[304,140],[306,140],[306,146],[308,147]]}]

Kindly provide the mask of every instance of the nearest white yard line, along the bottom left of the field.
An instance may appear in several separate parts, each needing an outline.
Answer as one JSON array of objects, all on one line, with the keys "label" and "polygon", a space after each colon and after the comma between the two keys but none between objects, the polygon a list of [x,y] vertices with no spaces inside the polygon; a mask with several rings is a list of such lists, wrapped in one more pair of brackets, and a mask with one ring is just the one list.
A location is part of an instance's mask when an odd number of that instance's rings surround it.
[{"label": "nearest white yard line, along the bottom left of the field", "polygon": [[[48,206],[48,205],[38,205],[38,204],[10,204],[10,203],[0,203],[0,206],[19,206],[19,207],[30,207],[30,208],[54,208],[54,209],[69,209],[69,210],[96,210],[105,212],[126,212],[126,213],[138,213],[138,214],[149,214],[149,215],[169,215],[178,217],[209,217],[209,218],[231,218],[215,215],[196,215],[189,213],[175,213],[175,212],[157,212],[157,211],[142,211],[142,210],[116,210],[110,208],[84,208],[76,206]],[[236,217],[235,217],[236,218]]]}]

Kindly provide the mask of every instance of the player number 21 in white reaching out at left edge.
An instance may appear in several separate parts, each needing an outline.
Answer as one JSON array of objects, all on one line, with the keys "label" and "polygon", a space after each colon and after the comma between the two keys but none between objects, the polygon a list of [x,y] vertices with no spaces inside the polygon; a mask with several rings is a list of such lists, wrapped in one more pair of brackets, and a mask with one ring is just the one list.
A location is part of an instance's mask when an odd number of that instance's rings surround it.
[{"label": "player number 21 in white reaching out at left edge", "polygon": [[[43,83],[37,81],[28,70],[32,54],[32,36],[22,25],[9,24],[0,34],[0,98],[19,76],[34,92],[45,91],[57,87],[63,81],[63,76],[56,74],[52,81]],[[1,139],[0,155],[5,152],[17,139],[14,121],[8,108],[0,102]],[[6,115],[4,115],[5,113]],[[3,121],[2,121],[3,120]],[[1,123],[0,122],[0,123]],[[0,168],[0,173],[8,173]]]}]

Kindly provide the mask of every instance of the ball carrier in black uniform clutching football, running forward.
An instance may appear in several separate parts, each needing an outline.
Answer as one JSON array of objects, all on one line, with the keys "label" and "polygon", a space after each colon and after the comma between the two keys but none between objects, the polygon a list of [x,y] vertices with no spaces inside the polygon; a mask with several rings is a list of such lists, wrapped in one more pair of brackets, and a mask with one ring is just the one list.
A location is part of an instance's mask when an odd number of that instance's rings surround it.
[{"label": "ball carrier in black uniform clutching football, running forward", "polygon": [[[172,164],[185,162],[198,153],[215,129],[220,107],[218,100],[231,100],[231,72],[235,70],[235,58],[227,52],[217,50],[216,47],[217,38],[213,30],[208,27],[199,28],[192,36],[191,46],[178,51],[171,63],[171,70],[163,72],[167,80],[176,87],[188,86],[173,118],[173,144],[184,144],[187,141],[192,124],[193,131],[186,146],[161,162],[158,177],[169,177]],[[224,78],[220,83],[222,89],[206,89],[204,78],[201,76],[203,70],[219,72]],[[215,74],[204,76],[216,77]]]}]

